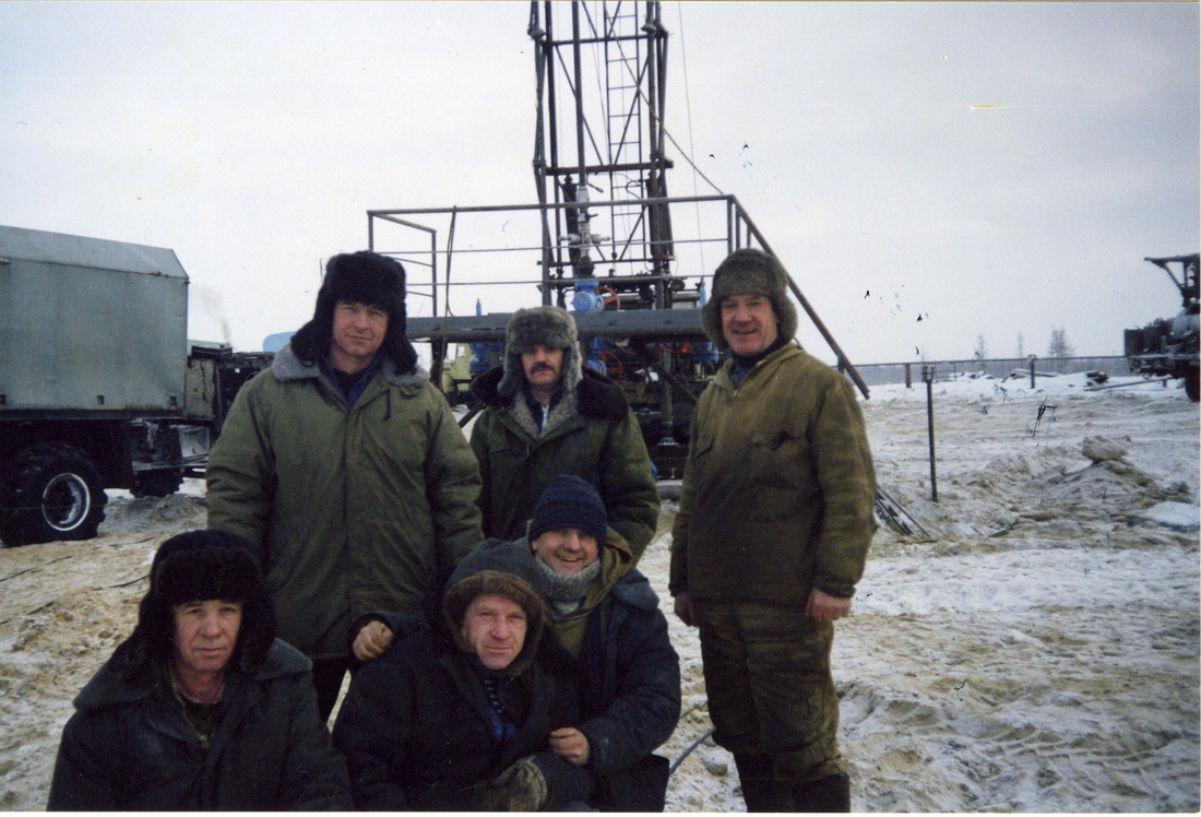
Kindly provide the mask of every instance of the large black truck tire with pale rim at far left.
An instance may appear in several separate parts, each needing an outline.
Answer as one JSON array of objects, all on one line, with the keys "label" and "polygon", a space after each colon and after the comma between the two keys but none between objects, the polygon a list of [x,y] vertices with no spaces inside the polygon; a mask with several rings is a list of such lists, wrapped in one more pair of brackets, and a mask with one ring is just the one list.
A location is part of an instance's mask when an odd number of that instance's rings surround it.
[{"label": "large black truck tire with pale rim at far left", "polygon": [[5,544],[90,539],[104,520],[100,472],[78,448],[34,446],[12,459],[4,475],[0,538]]}]

